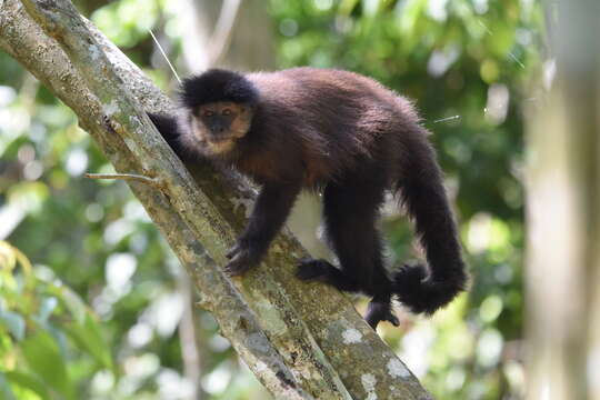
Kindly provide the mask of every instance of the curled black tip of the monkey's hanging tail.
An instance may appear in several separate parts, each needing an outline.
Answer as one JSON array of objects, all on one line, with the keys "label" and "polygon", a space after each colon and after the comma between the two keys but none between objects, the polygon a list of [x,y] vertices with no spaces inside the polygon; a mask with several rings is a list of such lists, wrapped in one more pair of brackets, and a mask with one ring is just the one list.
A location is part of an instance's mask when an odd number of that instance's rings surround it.
[{"label": "curled black tip of the monkey's hanging tail", "polygon": [[393,274],[393,292],[413,313],[430,316],[467,289],[463,269],[443,281],[432,281],[428,276],[423,264],[404,266]]}]

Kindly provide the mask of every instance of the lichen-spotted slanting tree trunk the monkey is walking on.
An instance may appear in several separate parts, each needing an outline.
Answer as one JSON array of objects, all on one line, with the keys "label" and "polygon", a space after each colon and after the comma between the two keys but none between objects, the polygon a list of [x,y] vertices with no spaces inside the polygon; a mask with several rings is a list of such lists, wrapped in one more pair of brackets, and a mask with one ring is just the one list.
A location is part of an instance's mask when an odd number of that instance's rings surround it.
[{"label": "lichen-spotted slanting tree trunk the monkey is walking on", "polygon": [[69,1],[0,2],[0,48],[77,113],[118,172],[150,178],[128,184],[274,398],[430,398],[343,294],[293,277],[306,253],[288,233],[243,278],[222,273],[252,191],[208,164],[190,176],[143,112],[173,104]]}]

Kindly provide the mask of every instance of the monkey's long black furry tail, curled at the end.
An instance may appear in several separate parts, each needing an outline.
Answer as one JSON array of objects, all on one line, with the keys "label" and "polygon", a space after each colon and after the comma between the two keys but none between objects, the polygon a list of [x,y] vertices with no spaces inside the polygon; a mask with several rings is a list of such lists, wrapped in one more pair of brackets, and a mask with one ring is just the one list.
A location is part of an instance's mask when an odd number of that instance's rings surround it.
[{"label": "monkey's long black furry tail, curled at the end", "polygon": [[412,312],[431,314],[466,289],[468,273],[433,148],[424,129],[411,133],[418,133],[411,136],[417,146],[404,154],[398,189],[428,266],[402,267],[393,273],[392,290]]}]

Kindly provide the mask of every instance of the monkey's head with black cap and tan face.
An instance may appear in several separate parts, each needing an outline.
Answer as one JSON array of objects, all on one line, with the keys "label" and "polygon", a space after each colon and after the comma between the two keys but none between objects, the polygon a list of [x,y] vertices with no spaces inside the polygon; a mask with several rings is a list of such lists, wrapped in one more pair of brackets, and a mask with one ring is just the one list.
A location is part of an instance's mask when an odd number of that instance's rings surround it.
[{"label": "monkey's head with black cap and tan face", "polygon": [[211,69],[183,81],[181,102],[192,140],[207,156],[218,156],[248,133],[258,91],[238,72]]}]

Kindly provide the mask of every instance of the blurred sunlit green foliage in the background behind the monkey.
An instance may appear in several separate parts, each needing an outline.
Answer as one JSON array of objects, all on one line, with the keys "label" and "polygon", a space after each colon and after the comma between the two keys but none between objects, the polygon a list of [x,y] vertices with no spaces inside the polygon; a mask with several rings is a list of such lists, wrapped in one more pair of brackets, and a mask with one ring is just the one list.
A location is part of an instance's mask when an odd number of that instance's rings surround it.
[{"label": "blurred sunlit green foliage in the background behind the monkey", "polygon": [[[184,72],[178,2],[78,7],[166,89],[173,79],[157,68],[148,29]],[[270,0],[267,11],[277,68],[371,76],[414,99],[433,132],[472,289],[432,319],[402,314],[401,329],[380,333],[440,399],[520,398],[521,109],[536,101],[524,88],[540,64],[539,4]],[[0,246],[0,397],[190,398],[178,261],[122,182],[82,178],[110,166],[72,112],[4,53],[0,71],[0,239],[11,243]],[[410,226],[388,214],[384,228],[393,254],[412,257]],[[210,314],[199,312],[194,327],[198,396],[267,396]]]}]

